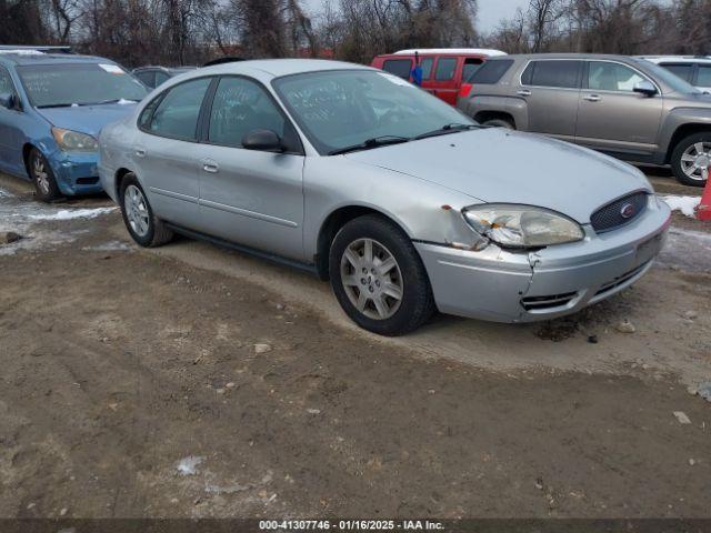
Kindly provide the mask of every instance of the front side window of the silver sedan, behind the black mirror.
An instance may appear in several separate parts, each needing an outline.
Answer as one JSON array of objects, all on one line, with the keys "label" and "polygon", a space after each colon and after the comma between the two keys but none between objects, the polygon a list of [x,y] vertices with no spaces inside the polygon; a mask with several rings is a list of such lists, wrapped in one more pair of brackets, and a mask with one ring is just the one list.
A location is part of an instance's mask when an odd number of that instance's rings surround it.
[{"label": "front side window of the silver sedan, behind the black mirror", "polygon": [[222,78],[210,110],[209,141],[241,147],[242,137],[252,130],[272,130],[293,145],[291,125],[261,86],[244,78]]}]

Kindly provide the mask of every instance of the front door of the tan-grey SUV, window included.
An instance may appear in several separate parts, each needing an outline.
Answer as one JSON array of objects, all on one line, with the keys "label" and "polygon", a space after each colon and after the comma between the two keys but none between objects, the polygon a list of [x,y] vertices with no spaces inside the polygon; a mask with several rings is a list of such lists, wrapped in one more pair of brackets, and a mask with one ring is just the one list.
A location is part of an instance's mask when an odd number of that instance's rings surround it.
[{"label": "front door of the tan-grey SUV, window included", "polygon": [[615,61],[589,61],[580,92],[575,142],[644,161],[657,149],[662,117],[661,93],[649,97],[634,86],[650,81]]}]

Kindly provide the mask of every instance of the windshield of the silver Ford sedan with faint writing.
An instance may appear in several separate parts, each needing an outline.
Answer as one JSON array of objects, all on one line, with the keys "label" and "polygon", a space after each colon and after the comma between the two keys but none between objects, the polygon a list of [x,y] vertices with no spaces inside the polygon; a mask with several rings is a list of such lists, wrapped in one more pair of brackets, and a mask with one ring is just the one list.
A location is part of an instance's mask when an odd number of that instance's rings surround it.
[{"label": "windshield of the silver Ford sedan with faint writing", "polygon": [[385,72],[309,72],[279,78],[273,87],[321,154],[367,140],[411,139],[447,124],[475,124],[438,98]]}]

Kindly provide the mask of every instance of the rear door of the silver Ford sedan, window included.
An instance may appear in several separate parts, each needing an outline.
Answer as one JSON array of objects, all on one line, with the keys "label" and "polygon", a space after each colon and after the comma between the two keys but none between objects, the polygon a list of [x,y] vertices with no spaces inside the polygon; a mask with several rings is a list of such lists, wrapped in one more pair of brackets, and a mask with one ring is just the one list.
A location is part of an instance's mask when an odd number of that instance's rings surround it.
[{"label": "rear door of the silver Ford sedan, window included", "polygon": [[134,168],[153,211],[186,228],[196,228],[199,219],[198,124],[211,80],[186,81],[151,102],[133,145]]}]

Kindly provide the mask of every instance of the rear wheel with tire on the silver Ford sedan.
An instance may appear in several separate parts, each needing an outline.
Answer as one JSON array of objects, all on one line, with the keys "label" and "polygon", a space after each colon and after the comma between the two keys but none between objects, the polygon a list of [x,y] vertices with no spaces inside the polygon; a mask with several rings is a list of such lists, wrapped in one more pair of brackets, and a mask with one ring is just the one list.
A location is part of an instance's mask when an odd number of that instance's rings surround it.
[{"label": "rear wheel with tire on the silver Ford sedan", "polygon": [[153,214],[143,188],[132,172],[126,174],[121,182],[119,202],[126,229],[138,244],[154,248],[172,240],[173,232]]}]

